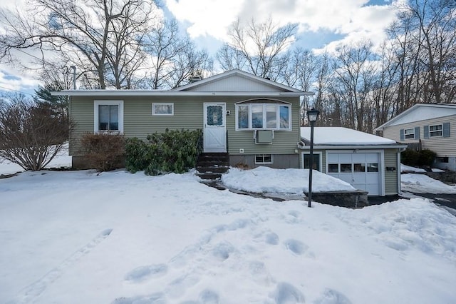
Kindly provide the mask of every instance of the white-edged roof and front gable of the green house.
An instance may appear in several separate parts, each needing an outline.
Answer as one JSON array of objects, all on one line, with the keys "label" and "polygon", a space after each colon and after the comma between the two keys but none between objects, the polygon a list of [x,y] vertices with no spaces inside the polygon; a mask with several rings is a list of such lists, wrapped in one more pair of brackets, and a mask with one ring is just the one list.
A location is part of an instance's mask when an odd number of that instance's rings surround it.
[{"label": "white-edged roof and front gable of the green house", "polygon": [[64,90],[54,96],[309,96],[291,86],[234,69],[172,90]]}]

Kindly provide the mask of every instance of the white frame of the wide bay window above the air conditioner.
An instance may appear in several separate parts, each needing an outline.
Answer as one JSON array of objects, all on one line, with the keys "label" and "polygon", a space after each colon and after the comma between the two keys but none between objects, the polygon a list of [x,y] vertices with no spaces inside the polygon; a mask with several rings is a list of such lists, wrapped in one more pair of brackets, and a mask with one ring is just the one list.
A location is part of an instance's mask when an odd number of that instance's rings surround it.
[{"label": "white frame of the wide bay window above the air conditioner", "polygon": [[[252,127],[252,106],[256,105],[261,105],[263,106],[263,127],[261,128],[253,128]],[[267,111],[267,106],[268,105],[273,105],[276,106],[276,126],[278,125],[278,128],[267,128],[266,124],[266,111]],[[239,106],[249,106],[249,126],[247,128],[239,128]],[[289,108],[288,111],[288,128],[280,128],[280,106],[286,106]],[[292,122],[291,122],[291,103],[237,103],[236,104],[236,131],[252,131],[252,130],[273,130],[273,131],[291,131],[292,129]]]}]

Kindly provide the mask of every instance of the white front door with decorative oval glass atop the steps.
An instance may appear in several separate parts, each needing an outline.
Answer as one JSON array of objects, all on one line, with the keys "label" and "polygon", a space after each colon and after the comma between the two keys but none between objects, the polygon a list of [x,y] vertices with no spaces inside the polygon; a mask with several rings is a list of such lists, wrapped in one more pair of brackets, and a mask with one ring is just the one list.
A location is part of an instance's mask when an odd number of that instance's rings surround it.
[{"label": "white front door with decorative oval glass atop the steps", "polygon": [[225,103],[204,103],[204,152],[227,152]]}]

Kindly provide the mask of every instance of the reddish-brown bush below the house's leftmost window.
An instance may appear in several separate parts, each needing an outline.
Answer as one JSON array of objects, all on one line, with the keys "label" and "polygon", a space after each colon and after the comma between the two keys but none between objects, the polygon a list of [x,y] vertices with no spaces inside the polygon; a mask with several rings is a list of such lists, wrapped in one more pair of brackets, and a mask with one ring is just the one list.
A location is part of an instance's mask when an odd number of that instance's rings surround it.
[{"label": "reddish-brown bush below the house's leftmost window", "polygon": [[123,168],[125,138],[117,133],[87,133],[81,138],[83,155],[90,168],[112,171]]}]

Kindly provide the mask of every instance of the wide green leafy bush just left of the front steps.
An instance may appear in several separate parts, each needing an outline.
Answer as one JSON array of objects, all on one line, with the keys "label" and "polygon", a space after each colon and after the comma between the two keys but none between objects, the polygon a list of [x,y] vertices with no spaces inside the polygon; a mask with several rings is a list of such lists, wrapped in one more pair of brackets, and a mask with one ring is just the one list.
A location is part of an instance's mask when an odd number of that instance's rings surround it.
[{"label": "wide green leafy bush just left of the front steps", "polygon": [[125,168],[147,175],[174,172],[184,173],[195,168],[202,152],[201,130],[169,130],[152,133],[147,142],[128,138],[125,144]]}]

